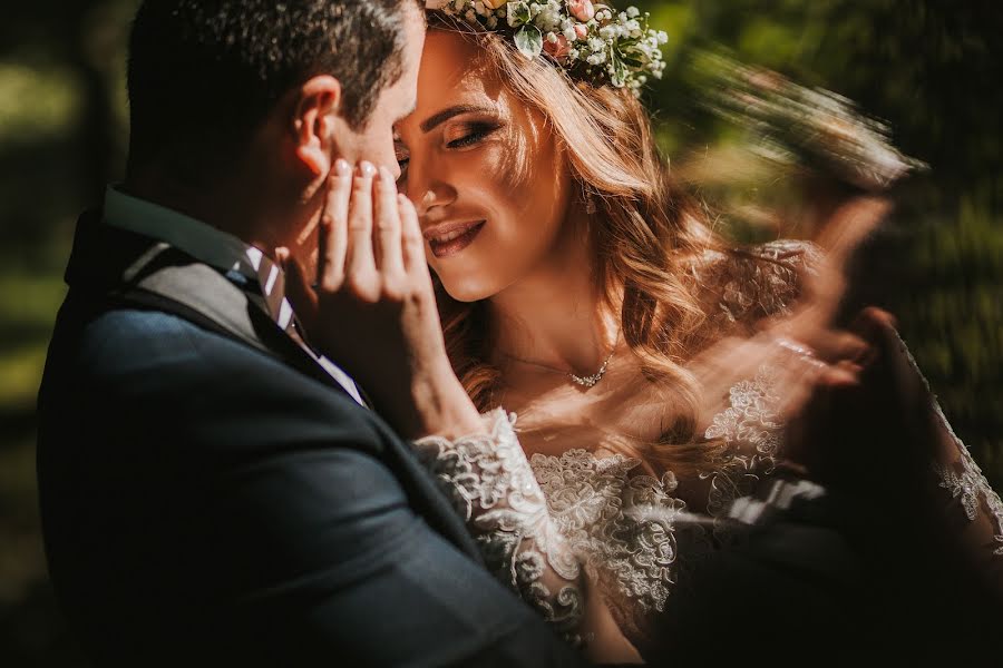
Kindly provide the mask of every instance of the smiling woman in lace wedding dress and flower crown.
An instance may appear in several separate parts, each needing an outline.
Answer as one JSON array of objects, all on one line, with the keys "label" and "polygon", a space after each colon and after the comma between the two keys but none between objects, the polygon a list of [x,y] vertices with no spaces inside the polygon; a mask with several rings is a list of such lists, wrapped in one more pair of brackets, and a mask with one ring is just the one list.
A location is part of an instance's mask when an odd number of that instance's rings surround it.
[{"label": "smiling woman in lace wedding dress and flower crown", "polygon": [[[674,589],[741,540],[736,501],[811,459],[785,450],[787,421],[859,381],[873,346],[831,323],[885,204],[845,206],[821,248],[730,248],[655,149],[635,91],[664,36],[644,16],[590,0],[428,16],[397,187],[487,433],[416,449],[503,582],[591,658],[641,661]],[[941,428],[931,487],[1003,560],[1003,504]]]}]

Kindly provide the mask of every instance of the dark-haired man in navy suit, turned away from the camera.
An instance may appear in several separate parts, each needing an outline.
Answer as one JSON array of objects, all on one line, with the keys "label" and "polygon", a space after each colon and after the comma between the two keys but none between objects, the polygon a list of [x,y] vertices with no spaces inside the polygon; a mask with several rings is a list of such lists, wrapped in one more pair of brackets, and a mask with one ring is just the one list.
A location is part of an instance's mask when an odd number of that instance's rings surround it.
[{"label": "dark-haired man in navy suit, turned away from the camera", "polygon": [[[423,33],[415,0],[139,8],[126,179],[80,218],[39,394],[50,573],[96,665],[577,662],[303,341],[270,257],[311,262],[337,158],[396,166]],[[455,377],[382,383],[387,414],[465,429],[415,402]]]}]

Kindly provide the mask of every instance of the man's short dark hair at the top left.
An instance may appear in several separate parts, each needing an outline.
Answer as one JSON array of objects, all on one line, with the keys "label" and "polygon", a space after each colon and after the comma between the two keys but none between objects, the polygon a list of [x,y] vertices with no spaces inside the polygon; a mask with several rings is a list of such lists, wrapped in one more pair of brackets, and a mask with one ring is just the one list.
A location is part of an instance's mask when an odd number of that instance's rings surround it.
[{"label": "man's short dark hair at the top left", "polygon": [[[317,75],[341,82],[363,127],[402,71],[405,7],[418,0],[144,0],[129,40],[130,168],[224,166],[275,102]],[[192,174],[191,176],[195,176]]]}]

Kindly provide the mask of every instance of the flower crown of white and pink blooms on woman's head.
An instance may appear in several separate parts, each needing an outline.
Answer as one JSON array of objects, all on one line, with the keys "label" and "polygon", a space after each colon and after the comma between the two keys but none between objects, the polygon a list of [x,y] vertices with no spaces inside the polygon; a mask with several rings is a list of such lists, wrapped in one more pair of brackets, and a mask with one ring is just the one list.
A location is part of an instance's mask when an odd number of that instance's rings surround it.
[{"label": "flower crown of white and pink blooms on woman's head", "polygon": [[640,95],[649,75],[661,79],[663,30],[649,28],[636,7],[617,11],[592,0],[428,0],[427,9],[493,32],[512,33],[519,53],[541,52],[569,75]]}]

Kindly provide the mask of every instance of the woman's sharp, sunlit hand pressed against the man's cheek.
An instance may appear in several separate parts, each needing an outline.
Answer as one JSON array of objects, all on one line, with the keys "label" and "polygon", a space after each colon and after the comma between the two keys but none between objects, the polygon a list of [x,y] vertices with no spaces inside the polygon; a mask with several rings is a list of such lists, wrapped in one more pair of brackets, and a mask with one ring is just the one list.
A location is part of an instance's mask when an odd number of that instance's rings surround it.
[{"label": "woman's sharp, sunlit hand pressed against the man's cheek", "polygon": [[289,298],[311,343],[358,380],[402,435],[481,430],[449,365],[413,205],[392,175],[339,160],[318,226],[311,287],[285,249]]}]

